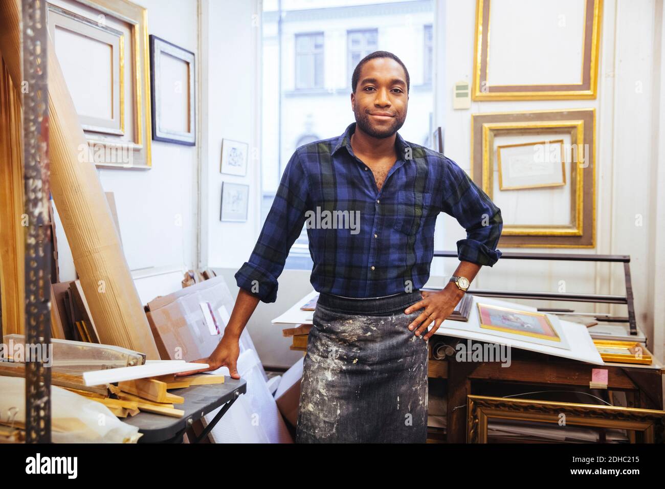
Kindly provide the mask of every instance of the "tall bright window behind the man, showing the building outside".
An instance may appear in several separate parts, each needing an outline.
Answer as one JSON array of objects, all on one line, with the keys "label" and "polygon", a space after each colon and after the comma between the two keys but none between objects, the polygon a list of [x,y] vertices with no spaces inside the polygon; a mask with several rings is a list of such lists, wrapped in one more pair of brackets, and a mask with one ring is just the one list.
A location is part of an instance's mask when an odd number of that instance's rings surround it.
[{"label": "tall bright window behind the man, showing the building outside", "polygon": [[[296,148],[339,136],[354,121],[351,76],[369,53],[390,51],[404,62],[411,90],[400,134],[418,144],[428,137],[434,97],[423,80],[423,63],[431,67],[432,55],[424,61],[421,46],[423,26],[434,23],[434,5],[434,0],[263,0],[261,222]],[[285,268],[311,267],[303,228]]]}]

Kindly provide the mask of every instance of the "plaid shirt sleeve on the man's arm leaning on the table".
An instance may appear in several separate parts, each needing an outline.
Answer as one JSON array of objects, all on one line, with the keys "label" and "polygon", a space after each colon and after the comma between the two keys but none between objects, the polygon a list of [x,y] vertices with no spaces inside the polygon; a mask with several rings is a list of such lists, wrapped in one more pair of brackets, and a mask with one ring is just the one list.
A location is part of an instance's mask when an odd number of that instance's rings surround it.
[{"label": "plaid shirt sleeve on the man's arm leaning on the table", "polygon": [[308,205],[307,174],[296,151],[284,169],[275,200],[249,261],[245,261],[235,273],[238,287],[263,302],[277,300],[277,278],[305,225]]}]

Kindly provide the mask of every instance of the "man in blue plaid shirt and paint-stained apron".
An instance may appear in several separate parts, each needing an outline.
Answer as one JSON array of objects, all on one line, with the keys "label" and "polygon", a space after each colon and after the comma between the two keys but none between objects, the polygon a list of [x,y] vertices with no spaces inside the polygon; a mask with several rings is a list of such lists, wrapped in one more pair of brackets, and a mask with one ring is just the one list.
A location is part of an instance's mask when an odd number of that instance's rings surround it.
[{"label": "man in blue plaid shirt and paint-stained apron", "polygon": [[[366,56],[352,76],[356,122],[341,136],[297,148],[249,261],[210,369],[239,378],[238,340],[307,222],[319,300],[301,383],[297,442],[425,442],[428,339],[481,265],[501,256],[501,212],[455,162],[406,142],[409,75],[392,53]],[[313,214],[327,219],[311,219]],[[442,291],[428,280],[436,216],[467,231],[460,265]],[[342,226],[330,216],[342,216]],[[357,217],[356,226],[352,226]],[[333,219],[334,221],[334,219]],[[432,328],[428,331],[428,327]],[[424,341],[422,341],[422,340]]]}]

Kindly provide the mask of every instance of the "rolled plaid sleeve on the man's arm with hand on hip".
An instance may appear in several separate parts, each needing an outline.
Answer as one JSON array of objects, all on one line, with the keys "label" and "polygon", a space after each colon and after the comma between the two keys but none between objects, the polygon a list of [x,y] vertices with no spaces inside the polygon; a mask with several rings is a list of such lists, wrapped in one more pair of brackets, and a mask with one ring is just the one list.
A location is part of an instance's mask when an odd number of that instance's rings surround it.
[{"label": "rolled plaid sleeve on the man's arm with hand on hip", "polygon": [[503,228],[501,210],[450,158],[446,158],[444,175],[442,210],[466,230],[466,240],[457,242],[458,258],[491,267],[501,257],[497,249]]}]

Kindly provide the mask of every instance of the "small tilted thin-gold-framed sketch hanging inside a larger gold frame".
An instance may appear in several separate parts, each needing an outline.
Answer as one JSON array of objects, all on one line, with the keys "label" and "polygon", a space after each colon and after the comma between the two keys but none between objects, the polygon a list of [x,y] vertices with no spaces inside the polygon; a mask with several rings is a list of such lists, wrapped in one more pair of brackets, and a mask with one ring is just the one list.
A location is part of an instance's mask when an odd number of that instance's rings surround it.
[{"label": "small tilted thin-gold-framed sketch hanging inside a larger gold frame", "polygon": [[566,184],[563,139],[497,146],[499,190]]}]

